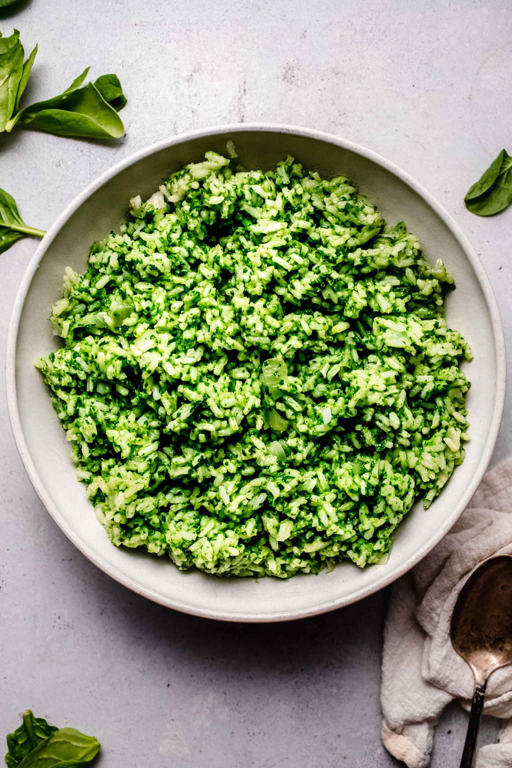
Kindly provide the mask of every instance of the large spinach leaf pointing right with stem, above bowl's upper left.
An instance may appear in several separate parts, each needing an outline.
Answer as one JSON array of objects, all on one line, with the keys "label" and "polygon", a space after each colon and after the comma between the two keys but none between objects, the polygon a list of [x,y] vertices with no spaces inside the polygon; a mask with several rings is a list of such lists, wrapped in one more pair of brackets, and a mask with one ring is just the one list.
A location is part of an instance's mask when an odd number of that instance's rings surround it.
[{"label": "large spinach leaf pointing right with stem, above bowl's upper left", "polygon": [[[57,136],[119,138],[124,125],[117,112],[104,100],[94,83],[81,88],[89,68],[75,78],[58,96],[36,101],[23,108],[5,126],[6,131],[21,124]],[[121,86],[120,86],[121,88]]]}]

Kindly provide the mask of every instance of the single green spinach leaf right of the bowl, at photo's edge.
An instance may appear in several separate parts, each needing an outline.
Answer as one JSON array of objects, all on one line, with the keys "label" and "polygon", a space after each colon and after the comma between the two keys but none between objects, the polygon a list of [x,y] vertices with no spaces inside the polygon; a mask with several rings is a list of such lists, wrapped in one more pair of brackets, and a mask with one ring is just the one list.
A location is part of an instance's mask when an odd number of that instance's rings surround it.
[{"label": "single green spinach leaf right of the bowl, at photo's edge", "polygon": [[493,216],[512,203],[512,157],[504,149],[467,191],[464,203],[477,216]]}]

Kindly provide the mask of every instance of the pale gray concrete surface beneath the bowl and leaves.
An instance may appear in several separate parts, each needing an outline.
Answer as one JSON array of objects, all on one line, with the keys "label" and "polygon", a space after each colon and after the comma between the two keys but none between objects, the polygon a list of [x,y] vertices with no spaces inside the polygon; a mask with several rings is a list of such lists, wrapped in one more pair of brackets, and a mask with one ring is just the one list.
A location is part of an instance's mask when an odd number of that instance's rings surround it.
[{"label": "pale gray concrete surface beneath the bowl and leaves", "polygon": [[[468,214],[463,197],[512,152],[508,0],[31,0],[0,13],[39,54],[28,98],[86,66],[129,99],[114,144],[23,131],[0,136],[0,186],[48,227],[97,174],[170,134],[276,121],[372,147],[461,224],[512,326],[512,210]],[[0,257],[0,346],[35,249]],[[477,318],[475,318],[477,322]],[[3,367],[3,366],[2,366]],[[2,381],[3,387],[3,381]],[[308,621],[216,624],[150,604],[75,551],[41,507],[0,412],[0,740],[32,707],[95,733],[101,766],[392,766],[379,737],[386,593]],[[494,462],[510,453],[512,403]],[[455,768],[467,716],[438,727],[434,768]],[[492,740],[496,723],[484,723]]]}]

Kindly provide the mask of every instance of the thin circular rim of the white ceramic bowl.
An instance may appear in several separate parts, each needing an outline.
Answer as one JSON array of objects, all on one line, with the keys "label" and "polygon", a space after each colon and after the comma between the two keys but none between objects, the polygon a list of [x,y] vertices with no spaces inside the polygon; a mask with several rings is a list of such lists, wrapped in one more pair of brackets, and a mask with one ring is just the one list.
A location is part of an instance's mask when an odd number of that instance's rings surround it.
[{"label": "thin circular rim of the white ceramic bowl", "polygon": [[[414,554],[411,554],[405,563],[392,568],[388,572],[382,571],[382,576],[377,578],[374,584],[361,588],[360,590],[353,592],[348,597],[341,597],[323,603],[320,601],[319,604],[310,609],[269,611],[268,613],[259,612],[257,614],[249,614],[243,611],[226,612],[216,611],[214,609],[206,610],[196,607],[193,604],[188,604],[173,598],[166,598],[150,588],[142,587],[137,583],[137,581],[127,577],[127,575],[122,573],[115,566],[105,564],[101,557],[97,557],[94,551],[91,551],[89,546],[84,541],[82,541],[81,537],[74,532],[71,525],[65,521],[57,505],[54,505],[54,503],[51,501],[51,498],[45,489],[45,485],[38,475],[34,463],[32,462],[31,455],[28,450],[28,445],[25,442],[25,435],[23,434],[23,430],[21,428],[21,418],[18,410],[18,398],[16,395],[15,365],[18,327],[21,319],[21,311],[25,304],[25,298],[27,296],[32,277],[35,274],[35,270],[38,269],[39,263],[41,263],[41,260],[44,257],[46,250],[48,250],[51,242],[55,239],[55,236],[61,230],[61,228],[64,227],[64,224],[68,222],[72,214],[74,214],[75,210],[78,210],[78,207],[84,204],[84,202],[88,200],[88,197],[91,197],[91,195],[99,187],[103,186],[108,180],[114,178],[121,172],[121,170],[124,170],[137,161],[143,160],[144,157],[149,157],[151,154],[155,154],[158,151],[173,147],[177,144],[182,144],[184,141],[190,141],[191,139],[208,136],[213,137],[226,133],[237,134],[247,131],[268,131],[270,133],[278,134],[297,134],[302,137],[323,141],[328,144],[335,144],[335,146],[342,147],[348,151],[352,151],[355,154],[366,157],[368,160],[384,167],[386,170],[389,170],[391,174],[394,174],[396,177],[405,182],[408,187],[411,187],[412,190],[414,190],[428,203],[428,205],[431,206],[431,208],[435,211],[436,214],[438,214],[441,220],[443,220],[444,224],[451,231],[452,235],[458,241],[462,250],[464,250],[465,255],[470,261],[471,266],[474,269],[474,273],[477,276],[477,280],[480,283],[481,289],[484,293],[487,307],[491,316],[491,324],[494,333],[494,346],[497,358],[496,399],[494,402],[491,427],[487,435],[487,439],[484,443],[481,458],[478,462],[476,472],[474,472],[474,475],[471,478],[471,482],[469,485],[467,485],[464,494],[459,499],[457,505],[455,505],[453,511],[451,511],[451,514],[448,515],[448,518],[446,518],[441,528],[439,528],[438,531],[436,531],[436,533],[428,541],[425,541],[424,544],[418,548]],[[494,444],[497,439],[497,434],[500,429],[500,422],[503,415],[506,378],[507,369],[505,359],[504,331],[501,323],[500,311],[497,306],[497,301],[494,296],[491,283],[484,271],[484,267],[482,266],[481,261],[467,240],[467,237],[462,232],[461,227],[459,227],[451,215],[448,214],[446,210],[444,210],[444,207],[442,207],[441,204],[439,204],[438,201],[435,200],[434,197],[432,197],[431,194],[408,173],[406,173],[404,170],[401,170],[401,168],[395,165],[395,163],[388,161],[385,159],[385,157],[382,157],[381,155],[370,149],[367,149],[366,147],[362,147],[359,144],[355,144],[355,142],[348,141],[348,139],[337,137],[334,134],[325,133],[323,131],[315,131],[311,128],[298,127],[289,124],[273,123],[220,124],[212,127],[200,128],[194,131],[187,131],[182,134],[177,134],[171,138],[157,141],[155,144],[150,144],[149,146],[128,155],[128,157],[125,157],[124,160],[119,161],[111,168],[105,170],[96,179],[94,179],[91,184],[88,184],[88,187],[86,187],[80,194],[77,195],[77,197],[74,198],[74,200],[71,201],[70,204],[68,204],[67,207],[64,208],[64,211],[60,214],[60,216],[58,216],[58,218],[55,220],[55,223],[53,223],[48,230],[48,233],[46,233],[45,237],[41,240],[41,243],[38,245],[38,248],[35,250],[33,257],[31,257],[31,260],[28,263],[25,273],[21,279],[18,293],[15,297],[12,316],[8,326],[8,338],[5,356],[5,379],[8,414],[11,420],[12,432],[18,453],[21,458],[21,462],[25,466],[25,471],[28,474],[28,478],[30,479],[31,484],[34,486],[35,492],[37,493],[42,504],[48,511],[49,515],[51,515],[51,518],[53,518],[58,527],[61,528],[61,531],[63,531],[64,535],[70,539],[74,546],[77,547],[78,550],[80,550],[81,553],[84,554],[86,558],[88,558],[88,560],[93,562],[97,568],[100,568],[101,571],[104,571],[104,573],[111,576],[111,578],[114,578],[115,581],[124,584],[125,587],[136,592],[137,594],[143,595],[145,598],[149,598],[154,602],[157,602],[166,607],[171,607],[177,611],[182,611],[183,613],[193,614],[200,617],[212,618],[221,621],[241,621],[249,623],[289,621],[297,618],[315,616],[327,611],[332,611],[335,608],[344,607],[345,605],[354,603],[358,600],[362,600],[362,598],[366,598],[369,595],[374,594],[375,592],[388,586],[388,584],[391,584],[391,582],[396,581],[403,574],[409,571],[415,564],[421,561],[421,559],[424,558],[424,556],[428,554],[429,551],[438,545],[439,541],[441,541],[441,539],[444,538],[448,531],[450,531],[454,523],[457,521],[457,518],[460,517],[464,509],[471,501],[471,498],[473,497],[474,492],[476,492],[477,487],[481,482],[481,478],[483,478],[487,469],[487,465],[494,450]]]}]

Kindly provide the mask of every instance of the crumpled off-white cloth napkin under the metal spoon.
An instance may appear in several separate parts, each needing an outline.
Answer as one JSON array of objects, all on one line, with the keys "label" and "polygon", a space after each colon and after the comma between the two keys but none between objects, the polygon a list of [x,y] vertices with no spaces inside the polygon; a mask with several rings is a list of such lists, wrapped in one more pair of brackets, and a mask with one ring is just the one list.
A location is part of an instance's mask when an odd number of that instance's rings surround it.
[{"label": "crumpled off-white cloth napkin under the metal spoon", "polygon": [[[409,768],[428,765],[434,726],[448,702],[459,699],[471,708],[473,673],[451,645],[451,614],[477,565],[494,554],[512,554],[510,511],[512,458],[487,472],[451,532],[391,590],[382,657],[382,740]],[[484,713],[504,723],[498,743],[479,750],[476,768],[510,768],[512,667],[491,675]]]}]

